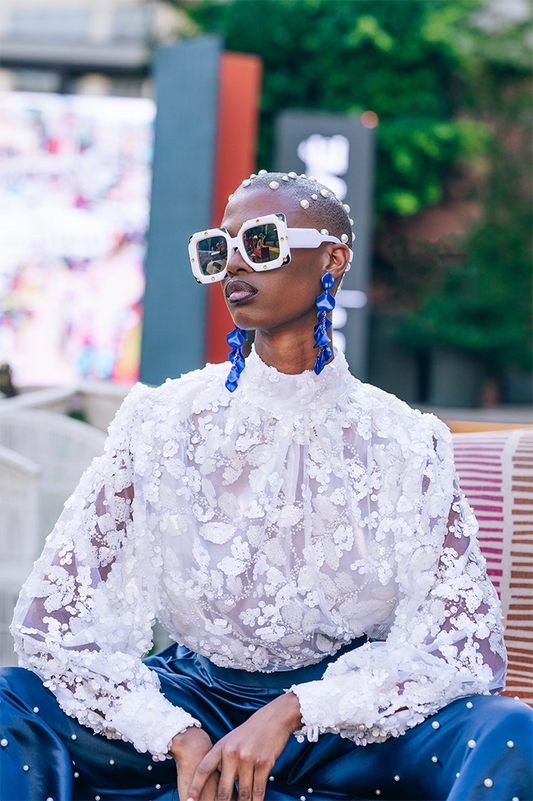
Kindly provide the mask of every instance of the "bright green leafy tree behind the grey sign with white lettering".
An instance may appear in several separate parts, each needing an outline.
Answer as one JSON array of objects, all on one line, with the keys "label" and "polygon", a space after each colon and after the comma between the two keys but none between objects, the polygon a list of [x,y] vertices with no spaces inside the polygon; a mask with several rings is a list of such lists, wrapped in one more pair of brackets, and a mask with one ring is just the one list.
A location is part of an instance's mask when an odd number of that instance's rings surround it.
[{"label": "bright green leafy tree behind the grey sign with white lettering", "polygon": [[447,174],[482,152],[484,128],[458,113],[476,70],[467,21],[480,0],[200,0],[203,31],[264,64],[259,164],[272,165],[286,108],[379,116],[377,210],[437,203]]}]

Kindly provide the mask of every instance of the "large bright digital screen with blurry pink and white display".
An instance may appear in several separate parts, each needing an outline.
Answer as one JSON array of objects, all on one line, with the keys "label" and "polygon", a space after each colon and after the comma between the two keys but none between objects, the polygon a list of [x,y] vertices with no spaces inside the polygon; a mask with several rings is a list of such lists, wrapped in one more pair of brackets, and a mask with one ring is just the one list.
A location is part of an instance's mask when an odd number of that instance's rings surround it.
[{"label": "large bright digital screen with blurry pink and white display", "polygon": [[19,386],[139,370],[154,103],[0,93],[0,362]]}]

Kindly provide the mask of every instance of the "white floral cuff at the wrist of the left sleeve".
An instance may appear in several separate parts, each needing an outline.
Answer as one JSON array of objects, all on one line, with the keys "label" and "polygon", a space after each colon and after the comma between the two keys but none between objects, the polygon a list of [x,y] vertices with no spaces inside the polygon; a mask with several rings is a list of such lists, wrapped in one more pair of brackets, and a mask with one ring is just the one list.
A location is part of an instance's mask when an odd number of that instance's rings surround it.
[{"label": "white floral cuff at the wrist of the left sleeve", "polygon": [[189,726],[200,726],[185,709],[173,706],[156,688],[128,692],[120,707],[106,715],[104,734],[133,743],[137,751],[149,751],[157,760],[167,757],[172,738]]}]

